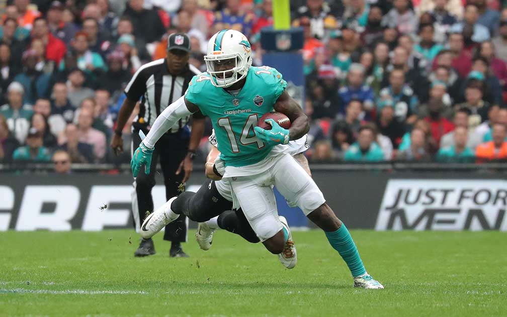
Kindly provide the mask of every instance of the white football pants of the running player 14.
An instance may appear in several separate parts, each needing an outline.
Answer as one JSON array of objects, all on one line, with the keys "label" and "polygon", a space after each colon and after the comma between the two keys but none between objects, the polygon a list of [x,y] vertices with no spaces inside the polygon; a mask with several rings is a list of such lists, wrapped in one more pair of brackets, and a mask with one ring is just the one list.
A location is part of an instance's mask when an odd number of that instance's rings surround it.
[{"label": "white football pants of the running player 14", "polygon": [[246,219],[261,241],[269,239],[282,229],[273,185],[289,204],[301,208],[305,215],[325,203],[324,195],[317,184],[289,154],[281,155],[273,167],[264,173],[228,177],[224,179],[224,184],[227,183],[232,188],[234,207],[241,206]]}]

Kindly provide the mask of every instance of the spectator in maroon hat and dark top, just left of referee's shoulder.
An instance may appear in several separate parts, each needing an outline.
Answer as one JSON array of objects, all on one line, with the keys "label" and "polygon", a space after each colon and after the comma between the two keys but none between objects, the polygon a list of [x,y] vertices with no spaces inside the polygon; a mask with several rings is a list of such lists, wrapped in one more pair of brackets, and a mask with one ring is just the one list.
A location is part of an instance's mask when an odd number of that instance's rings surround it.
[{"label": "spectator in maroon hat and dark top, just left of referee's shoulder", "polygon": [[99,87],[107,90],[116,100],[127,86],[131,73],[123,67],[125,54],[113,51],[107,55],[107,71],[99,78]]}]

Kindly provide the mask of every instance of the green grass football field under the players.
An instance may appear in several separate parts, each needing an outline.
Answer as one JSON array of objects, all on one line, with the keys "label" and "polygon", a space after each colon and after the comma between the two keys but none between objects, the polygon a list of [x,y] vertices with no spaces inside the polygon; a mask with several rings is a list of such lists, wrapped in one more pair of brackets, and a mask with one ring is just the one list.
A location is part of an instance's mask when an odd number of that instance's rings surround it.
[{"label": "green grass football field under the players", "polygon": [[[0,233],[0,316],[505,316],[502,232],[352,231],[385,290],[352,287],[320,231],[294,232],[287,270],[261,244],[215,233],[213,248],[134,258],[132,231]],[[129,241],[132,243],[130,244]]]}]

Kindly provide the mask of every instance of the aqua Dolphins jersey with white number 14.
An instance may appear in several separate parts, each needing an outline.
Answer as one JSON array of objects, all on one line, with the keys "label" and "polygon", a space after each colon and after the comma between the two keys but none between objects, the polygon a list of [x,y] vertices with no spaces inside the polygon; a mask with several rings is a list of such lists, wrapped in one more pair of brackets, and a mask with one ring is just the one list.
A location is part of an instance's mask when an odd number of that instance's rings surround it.
[{"label": "aqua Dolphins jersey with white number 14", "polygon": [[221,158],[226,166],[241,167],[262,161],[273,146],[259,140],[253,127],[287,87],[274,68],[250,67],[237,96],[214,87],[207,73],[194,76],[185,98],[211,119]]}]

